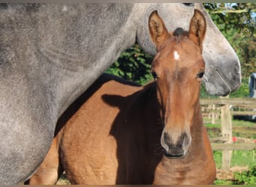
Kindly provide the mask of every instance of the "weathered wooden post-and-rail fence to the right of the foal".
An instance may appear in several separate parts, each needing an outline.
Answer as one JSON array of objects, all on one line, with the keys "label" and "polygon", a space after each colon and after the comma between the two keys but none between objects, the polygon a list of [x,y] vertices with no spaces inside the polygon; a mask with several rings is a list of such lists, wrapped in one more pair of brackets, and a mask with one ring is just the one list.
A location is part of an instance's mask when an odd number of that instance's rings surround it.
[{"label": "weathered wooden post-and-rail fence to the right of the foal", "polygon": [[237,138],[238,143],[234,144],[231,120],[235,114],[256,115],[256,99],[201,99],[201,109],[203,116],[210,117],[213,124],[216,118],[221,118],[222,137],[211,138],[210,141],[213,150],[222,150],[223,170],[228,171],[231,168],[232,150],[256,150],[255,142],[250,139]]}]

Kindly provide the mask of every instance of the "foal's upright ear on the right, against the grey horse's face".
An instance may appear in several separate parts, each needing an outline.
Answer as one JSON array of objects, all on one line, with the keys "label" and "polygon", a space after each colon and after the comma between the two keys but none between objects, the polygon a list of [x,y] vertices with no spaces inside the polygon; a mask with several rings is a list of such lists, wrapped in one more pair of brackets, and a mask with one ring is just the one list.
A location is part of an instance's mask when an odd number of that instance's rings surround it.
[{"label": "foal's upright ear on the right, against the grey horse's face", "polygon": [[195,9],[195,13],[192,16],[189,25],[189,37],[195,43],[197,43],[200,48],[201,52],[203,50],[203,40],[205,36],[207,25],[204,18],[204,14],[201,11]]}]

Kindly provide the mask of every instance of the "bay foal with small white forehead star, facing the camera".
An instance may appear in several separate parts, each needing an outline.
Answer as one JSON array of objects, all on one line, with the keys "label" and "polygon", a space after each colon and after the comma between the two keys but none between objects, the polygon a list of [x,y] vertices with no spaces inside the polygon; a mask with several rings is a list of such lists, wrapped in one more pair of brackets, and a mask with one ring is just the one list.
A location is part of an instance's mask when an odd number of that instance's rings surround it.
[{"label": "bay foal with small white forehead star, facing the camera", "polygon": [[155,80],[135,86],[101,76],[70,107],[73,116],[57,131],[31,184],[56,183],[62,171],[73,184],[213,183],[199,104],[204,16],[195,10],[189,31],[168,33],[154,11],[149,31]]}]

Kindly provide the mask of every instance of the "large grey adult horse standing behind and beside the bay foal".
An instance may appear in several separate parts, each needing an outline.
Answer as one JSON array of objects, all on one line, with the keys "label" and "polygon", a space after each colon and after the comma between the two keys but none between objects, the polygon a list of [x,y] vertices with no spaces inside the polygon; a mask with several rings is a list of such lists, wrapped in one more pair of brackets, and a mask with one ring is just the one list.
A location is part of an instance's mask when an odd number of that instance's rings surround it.
[{"label": "large grey adult horse standing behind and beside the bay foal", "polygon": [[1,4],[0,184],[28,179],[42,162],[55,124],[120,53],[137,42],[155,54],[147,29],[153,10],[188,29],[194,9],[207,19],[207,91],[240,86],[240,61],[202,4]]}]

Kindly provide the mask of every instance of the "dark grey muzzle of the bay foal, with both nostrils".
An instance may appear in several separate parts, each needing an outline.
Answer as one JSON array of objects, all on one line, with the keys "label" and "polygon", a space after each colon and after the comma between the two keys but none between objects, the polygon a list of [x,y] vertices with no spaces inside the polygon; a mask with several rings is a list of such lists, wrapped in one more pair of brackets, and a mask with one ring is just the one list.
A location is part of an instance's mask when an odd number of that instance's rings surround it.
[{"label": "dark grey muzzle of the bay foal, with both nostrils", "polygon": [[186,156],[191,144],[191,135],[187,132],[181,133],[177,138],[173,138],[171,133],[162,132],[161,144],[165,149],[165,156],[168,158],[181,158]]}]

